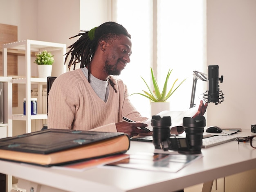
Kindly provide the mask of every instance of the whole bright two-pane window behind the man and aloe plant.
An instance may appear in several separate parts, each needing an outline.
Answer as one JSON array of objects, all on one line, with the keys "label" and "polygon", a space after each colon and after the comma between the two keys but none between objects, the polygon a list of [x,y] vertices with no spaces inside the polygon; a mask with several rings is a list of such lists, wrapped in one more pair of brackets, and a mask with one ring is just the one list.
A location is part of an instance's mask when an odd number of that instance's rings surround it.
[{"label": "whole bright two-pane window behind the man and aloe plant", "polygon": [[[206,72],[206,0],[129,0],[128,2],[115,0],[113,2],[116,7],[113,9],[115,10],[113,20],[124,25],[132,36],[131,62],[120,75],[129,93],[147,91],[140,76],[150,83],[150,67],[153,67],[157,74],[161,88],[167,71],[171,68],[173,69],[171,83],[176,78],[179,78],[178,82],[187,78],[168,99],[171,102],[171,110],[188,109],[193,71]],[[153,33],[153,26],[157,26],[157,36]],[[157,40],[153,41],[155,36]],[[153,61],[154,58],[157,59]],[[170,87],[171,83],[169,83]],[[198,81],[196,104],[199,103],[205,90],[206,83]],[[150,102],[147,98],[135,94],[130,96],[130,100],[143,116],[150,117]]]}]

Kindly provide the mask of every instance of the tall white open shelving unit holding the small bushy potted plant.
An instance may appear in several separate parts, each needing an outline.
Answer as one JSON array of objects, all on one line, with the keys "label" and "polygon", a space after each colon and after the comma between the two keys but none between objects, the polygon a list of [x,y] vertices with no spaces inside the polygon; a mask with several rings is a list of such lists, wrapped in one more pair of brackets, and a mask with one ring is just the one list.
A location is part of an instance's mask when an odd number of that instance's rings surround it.
[{"label": "tall white open shelving unit holding the small bushy potted plant", "polygon": [[[47,119],[47,114],[43,114],[43,85],[46,85],[46,78],[34,78],[31,77],[31,53],[40,51],[61,51],[61,62],[55,63],[53,65],[58,65],[58,74],[66,72],[66,67],[64,66],[64,54],[66,53],[66,44],[45,42],[37,40],[22,40],[18,42],[11,42],[3,45],[3,71],[4,77],[7,77],[7,52],[17,51],[19,54],[24,53],[25,56],[25,77],[13,77],[13,84],[25,84],[25,98],[26,100],[31,100],[31,85],[36,84],[38,87],[38,100],[37,100],[37,114],[36,115],[23,115],[23,114],[9,114],[12,120],[26,121],[26,133],[31,132],[31,120],[34,119]],[[56,56],[54,56],[54,59]],[[31,114],[31,102],[26,102],[26,114]],[[43,126],[42,126],[43,127]]]}]

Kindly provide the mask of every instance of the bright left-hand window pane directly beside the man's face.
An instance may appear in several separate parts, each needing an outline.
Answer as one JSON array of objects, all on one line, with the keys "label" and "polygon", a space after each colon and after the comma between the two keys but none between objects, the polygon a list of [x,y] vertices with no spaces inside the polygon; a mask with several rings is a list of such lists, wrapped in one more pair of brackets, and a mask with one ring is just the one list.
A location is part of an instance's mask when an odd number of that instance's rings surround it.
[{"label": "bright left-hand window pane directly beside the man's face", "polygon": [[[143,9],[142,9],[143,7]],[[147,87],[140,76],[150,82],[152,65],[152,5],[149,0],[117,0],[116,22],[123,25],[132,38],[131,62],[121,72],[120,78],[129,94],[142,93]],[[138,94],[130,96],[132,104],[146,117],[150,117],[150,102]]]}]

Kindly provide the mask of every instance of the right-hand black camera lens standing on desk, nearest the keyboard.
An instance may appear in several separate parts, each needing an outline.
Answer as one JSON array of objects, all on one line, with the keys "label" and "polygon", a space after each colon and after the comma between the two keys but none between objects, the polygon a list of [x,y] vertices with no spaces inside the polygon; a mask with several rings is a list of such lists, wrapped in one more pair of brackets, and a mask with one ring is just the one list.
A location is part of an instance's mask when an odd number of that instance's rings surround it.
[{"label": "right-hand black camera lens standing on desk, nearest the keyboard", "polygon": [[205,127],[204,116],[197,116],[195,118],[184,117],[183,127],[186,132],[186,140],[189,143],[190,154],[200,154],[203,144],[203,133]]}]

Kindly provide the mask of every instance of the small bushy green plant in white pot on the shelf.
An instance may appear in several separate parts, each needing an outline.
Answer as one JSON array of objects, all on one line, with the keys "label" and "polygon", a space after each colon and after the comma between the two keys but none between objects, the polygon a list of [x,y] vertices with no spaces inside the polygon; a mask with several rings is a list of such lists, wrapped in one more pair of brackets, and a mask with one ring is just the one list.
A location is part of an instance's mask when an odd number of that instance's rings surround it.
[{"label": "small bushy green plant in white pot on the shelf", "polygon": [[52,74],[52,64],[54,63],[54,55],[49,51],[42,51],[35,55],[34,63],[38,66],[39,78],[47,78]]}]

